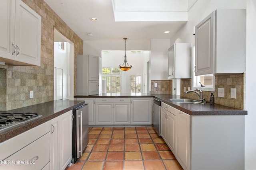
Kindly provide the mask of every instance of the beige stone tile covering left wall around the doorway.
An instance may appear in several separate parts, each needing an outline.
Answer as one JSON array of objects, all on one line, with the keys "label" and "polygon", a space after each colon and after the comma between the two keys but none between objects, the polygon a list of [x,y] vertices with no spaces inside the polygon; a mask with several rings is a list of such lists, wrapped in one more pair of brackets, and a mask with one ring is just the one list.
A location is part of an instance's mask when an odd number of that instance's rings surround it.
[{"label": "beige stone tile covering left wall around the doorway", "polygon": [[41,66],[0,65],[0,111],[53,100],[54,28],[74,43],[74,56],[83,54],[83,40],[43,0],[22,1],[42,17]]}]

